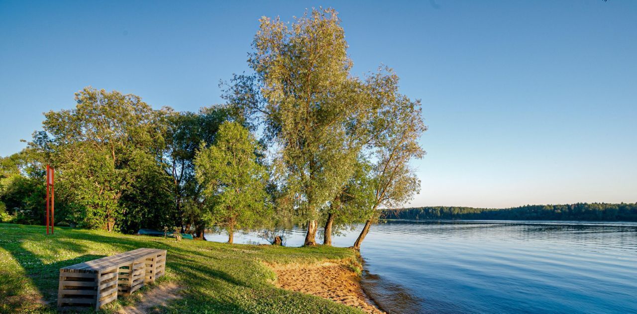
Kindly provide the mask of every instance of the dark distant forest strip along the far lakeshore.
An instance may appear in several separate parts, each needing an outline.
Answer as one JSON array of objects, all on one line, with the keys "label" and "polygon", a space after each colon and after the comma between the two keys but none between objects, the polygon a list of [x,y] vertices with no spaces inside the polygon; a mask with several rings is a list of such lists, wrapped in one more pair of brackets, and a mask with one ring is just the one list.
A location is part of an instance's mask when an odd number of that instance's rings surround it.
[{"label": "dark distant forest strip along the far lakeshore", "polygon": [[513,208],[456,206],[415,207],[385,211],[387,219],[587,220],[637,221],[637,203],[526,205]]}]

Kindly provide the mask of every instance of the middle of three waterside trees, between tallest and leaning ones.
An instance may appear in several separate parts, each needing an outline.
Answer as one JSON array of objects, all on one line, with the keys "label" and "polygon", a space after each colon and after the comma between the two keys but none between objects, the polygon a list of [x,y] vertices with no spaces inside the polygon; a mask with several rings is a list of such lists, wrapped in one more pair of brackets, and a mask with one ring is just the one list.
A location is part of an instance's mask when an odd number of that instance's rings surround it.
[{"label": "middle of three waterside trees, between tallest and leaning ones", "polygon": [[[335,228],[366,222],[378,206],[382,206],[375,197],[377,174],[373,171],[372,161],[382,160],[379,153],[383,147],[392,144],[387,137],[403,127],[399,124],[401,118],[408,118],[401,117],[404,111],[418,111],[420,106],[398,94],[398,76],[390,68],[379,68],[364,82],[355,82],[358,85],[353,98],[364,105],[348,119],[345,146],[352,152],[359,152],[359,157],[350,178],[341,185],[340,193],[322,211],[326,218],[324,245],[331,245],[331,233]],[[422,125],[419,114],[409,118],[415,119],[414,124]],[[405,188],[413,193],[418,187]]]}]

